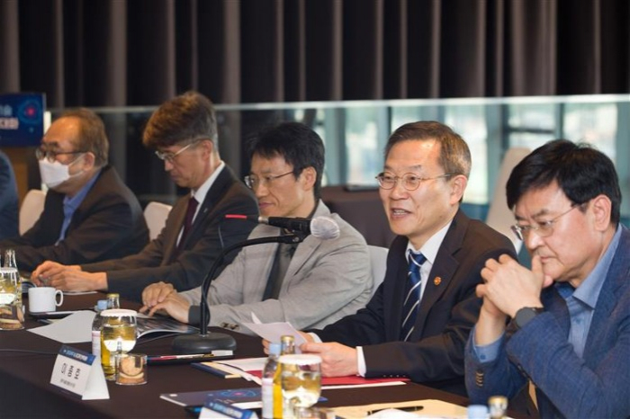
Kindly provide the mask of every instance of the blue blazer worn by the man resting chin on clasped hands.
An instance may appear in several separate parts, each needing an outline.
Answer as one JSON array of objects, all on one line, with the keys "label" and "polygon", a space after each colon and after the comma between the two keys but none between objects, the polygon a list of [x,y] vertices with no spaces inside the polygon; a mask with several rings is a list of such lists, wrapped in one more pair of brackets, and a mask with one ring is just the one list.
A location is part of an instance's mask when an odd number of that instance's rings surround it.
[{"label": "blue blazer worn by the man resting chin on clasped hands", "polygon": [[630,231],[621,228],[582,359],[567,341],[566,303],[548,287],[541,294],[545,312],[504,339],[496,360],[482,363],[469,343],[466,387],[473,402],[512,397],[530,378],[542,417],[630,417]]}]

